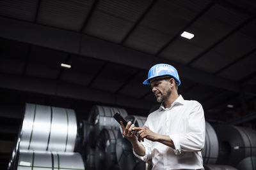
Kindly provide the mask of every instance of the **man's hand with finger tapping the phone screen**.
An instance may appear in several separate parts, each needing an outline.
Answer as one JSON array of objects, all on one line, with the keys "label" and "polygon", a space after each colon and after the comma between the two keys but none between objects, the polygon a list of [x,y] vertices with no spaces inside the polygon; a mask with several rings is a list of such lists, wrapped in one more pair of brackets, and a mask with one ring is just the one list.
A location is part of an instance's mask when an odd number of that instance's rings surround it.
[{"label": "man's hand with finger tapping the phone screen", "polygon": [[150,131],[150,129],[147,127],[133,127],[132,130],[138,131],[138,138],[140,138],[142,141],[144,141],[144,138],[150,141],[158,141],[159,139],[159,135],[153,131]]}]

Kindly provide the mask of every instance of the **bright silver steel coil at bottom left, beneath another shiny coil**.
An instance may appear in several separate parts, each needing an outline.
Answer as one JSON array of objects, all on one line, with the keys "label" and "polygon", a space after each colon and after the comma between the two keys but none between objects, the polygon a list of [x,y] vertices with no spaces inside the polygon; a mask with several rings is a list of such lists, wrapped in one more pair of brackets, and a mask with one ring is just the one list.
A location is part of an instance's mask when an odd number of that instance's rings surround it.
[{"label": "bright silver steel coil at bottom left, beneath another shiny coil", "polygon": [[84,163],[79,153],[20,150],[17,170],[28,169],[84,170]]}]

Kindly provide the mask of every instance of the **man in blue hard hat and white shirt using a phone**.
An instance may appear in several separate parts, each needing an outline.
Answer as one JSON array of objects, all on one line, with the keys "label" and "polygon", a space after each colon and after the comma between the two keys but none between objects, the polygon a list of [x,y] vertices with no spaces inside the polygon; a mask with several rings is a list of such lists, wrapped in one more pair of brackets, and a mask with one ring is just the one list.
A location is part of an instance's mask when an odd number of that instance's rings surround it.
[{"label": "man in blue hard hat and white shirt using a phone", "polygon": [[197,101],[187,101],[178,95],[180,80],[175,67],[156,64],[143,84],[151,85],[161,106],[148,115],[143,127],[134,127],[131,122],[124,127],[121,121],[134,155],[144,161],[152,159],[152,169],[204,169],[204,110]]}]

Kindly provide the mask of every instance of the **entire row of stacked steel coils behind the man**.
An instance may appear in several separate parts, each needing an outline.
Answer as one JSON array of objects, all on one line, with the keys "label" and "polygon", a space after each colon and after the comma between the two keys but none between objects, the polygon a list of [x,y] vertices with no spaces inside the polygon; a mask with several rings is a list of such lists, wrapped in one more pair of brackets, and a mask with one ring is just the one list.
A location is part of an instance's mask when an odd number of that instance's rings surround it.
[{"label": "entire row of stacked steel coils behind the man", "polygon": [[[74,110],[26,104],[8,169],[82,170],[84,162],[86,170],[150,169],[150,162],[134,156],[131,143],[113,118],[116,112],[136,127],[147,121],[147,117],[128,115],[122,108],[97,105],[88,121],[81,120],[77,127]],[[212,128],[208,122],[205,130],[205,169],[256,170],[255,131],[232,125]]]}]

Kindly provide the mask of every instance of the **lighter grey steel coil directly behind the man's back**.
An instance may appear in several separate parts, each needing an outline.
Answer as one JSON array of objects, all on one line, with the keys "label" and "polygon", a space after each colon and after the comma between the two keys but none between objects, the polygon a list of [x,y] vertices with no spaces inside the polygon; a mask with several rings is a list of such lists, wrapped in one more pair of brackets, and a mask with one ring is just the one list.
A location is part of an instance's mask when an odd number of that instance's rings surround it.
[{"label": "lighter grey steel coil directly behind the man's back", "polygon": [[205,145],[202,150],[204,164],[215,164],[218,159],[219,144],[216,132],[211,124],[205,122]]}]

